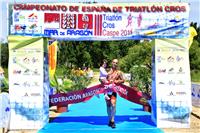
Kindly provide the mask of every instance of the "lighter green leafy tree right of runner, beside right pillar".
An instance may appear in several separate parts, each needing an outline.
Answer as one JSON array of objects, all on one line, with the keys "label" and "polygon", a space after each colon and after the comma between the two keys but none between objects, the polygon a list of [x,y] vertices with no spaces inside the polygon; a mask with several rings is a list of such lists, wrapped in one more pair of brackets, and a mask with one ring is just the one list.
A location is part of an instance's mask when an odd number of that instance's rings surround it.
[{"label": "lighter green leafy tree right of runner, beside right pillar", "polygon": [[128,54],[120,60],[120,68],[131,73],[130,85],[142,92],[151,92],[151,55],[153,42],[143,42],[129,48]]}]

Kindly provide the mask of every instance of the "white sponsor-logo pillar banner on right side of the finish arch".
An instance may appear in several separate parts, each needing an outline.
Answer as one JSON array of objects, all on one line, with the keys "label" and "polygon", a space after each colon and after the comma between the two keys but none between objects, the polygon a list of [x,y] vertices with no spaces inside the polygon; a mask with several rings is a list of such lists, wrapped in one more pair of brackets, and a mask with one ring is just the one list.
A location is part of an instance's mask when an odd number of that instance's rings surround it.
[{"label": "white sponsor-logo pillar banner on right side of the finish arch", "polygon": [[188,39],[155,40],[154,74],[153,117],[157,126],[189,127],[191,79]]}]

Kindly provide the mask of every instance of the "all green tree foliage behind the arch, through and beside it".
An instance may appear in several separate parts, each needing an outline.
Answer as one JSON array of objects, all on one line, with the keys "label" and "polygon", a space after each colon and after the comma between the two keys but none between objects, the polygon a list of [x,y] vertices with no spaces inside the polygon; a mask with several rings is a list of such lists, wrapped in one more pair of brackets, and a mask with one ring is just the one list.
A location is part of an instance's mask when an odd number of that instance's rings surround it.
[{"label": "all green tree foliage behind the arch, through and beside it", "polygon": [[[194,37],[190,47],[190,69],[193,82],[200,82],[200,27],[191,23],[198,35]],[[151,55],[153,41],[123,40],[123,41],[59,41],[58,43],[58,68],[82,69],[90,67],[97,69],[103,59],[119,59],[120,69],[131,73],[130,84],[138,84],[144,92],[148,92],[151,84]],[[8,68],[8,43],[1,43],[1,66],[7,78]],[[109,66],[110,67],[110,66]],[[59,70],[60,71],[60,70]],[[58,75],[62,75],[60,73]],[[72,77],[71,77],[72,78]],[[138,83],[138,81],[140,81]]]}]

